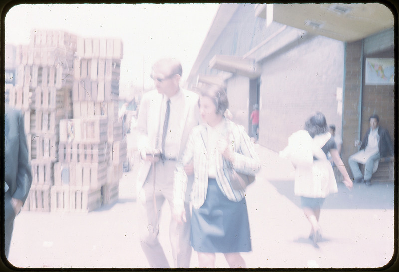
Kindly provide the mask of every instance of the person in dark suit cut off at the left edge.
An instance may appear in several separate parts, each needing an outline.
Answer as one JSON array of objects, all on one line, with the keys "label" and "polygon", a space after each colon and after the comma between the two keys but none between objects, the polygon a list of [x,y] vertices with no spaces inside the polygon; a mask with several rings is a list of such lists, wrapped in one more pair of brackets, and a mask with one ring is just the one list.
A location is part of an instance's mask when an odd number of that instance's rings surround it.
[{"label": "person in dark suit cut off at the left edge", "polygon": [[4,224],[8,258],[14,219],[28,197],[32,173],[22,112],[5,105],[4,114]]}]

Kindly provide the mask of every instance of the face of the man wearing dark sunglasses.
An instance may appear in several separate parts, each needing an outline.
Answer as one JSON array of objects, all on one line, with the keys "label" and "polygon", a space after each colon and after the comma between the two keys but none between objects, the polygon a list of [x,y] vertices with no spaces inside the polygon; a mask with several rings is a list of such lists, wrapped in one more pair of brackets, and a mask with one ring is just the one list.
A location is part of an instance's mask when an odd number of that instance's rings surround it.
[{"label": "face of the man wearing dark sunglasses", "polygon": [[151,74],[158,93],[172,96],[179,89],[179,75],[173,74],[170,67],[160,65],[155,67]]}]

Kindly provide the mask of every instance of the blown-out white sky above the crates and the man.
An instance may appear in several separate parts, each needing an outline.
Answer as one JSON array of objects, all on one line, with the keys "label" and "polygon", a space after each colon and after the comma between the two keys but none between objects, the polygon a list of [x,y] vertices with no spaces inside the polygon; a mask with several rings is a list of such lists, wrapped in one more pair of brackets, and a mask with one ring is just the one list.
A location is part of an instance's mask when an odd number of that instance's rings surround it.
[{"label": "blown-out white sky above the crates and the man", "polygon": [[120,90],[151,86],[151,66],[176,57],[185,80],[219,4],[22,4],[5,17],[5,42],[28,44],[33,29],[63,30],[83,38],[121,38]]}]

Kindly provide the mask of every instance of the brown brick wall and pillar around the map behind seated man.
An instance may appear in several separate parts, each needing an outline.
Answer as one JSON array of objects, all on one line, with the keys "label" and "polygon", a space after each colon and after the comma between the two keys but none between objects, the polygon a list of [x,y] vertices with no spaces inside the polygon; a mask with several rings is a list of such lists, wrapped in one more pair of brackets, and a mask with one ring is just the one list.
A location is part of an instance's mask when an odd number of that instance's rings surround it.
[{"label": "brown brick wall and pillar around the map behind seated man", "polygon": [[[369,117],[377,114],[380,125],[387,128],[394,141],[394,86],[366,85],[362,65],[366,57],[393,57],[393,50],[388,48],[383,52],[372,50],[371,44],[379,47],[379,43],[372,43],[368,39],[368,52],[365,53],[363,41],[346,44],[345,54],[345,89],[343,107],[343,148],[341,157],[345,165],[350,155],[358,151],[354,146],[355,140],[361,140],[369,128]],[[349,168],[348,168],[349,170]],[[350,171],[349,174],[351,175]]]}]

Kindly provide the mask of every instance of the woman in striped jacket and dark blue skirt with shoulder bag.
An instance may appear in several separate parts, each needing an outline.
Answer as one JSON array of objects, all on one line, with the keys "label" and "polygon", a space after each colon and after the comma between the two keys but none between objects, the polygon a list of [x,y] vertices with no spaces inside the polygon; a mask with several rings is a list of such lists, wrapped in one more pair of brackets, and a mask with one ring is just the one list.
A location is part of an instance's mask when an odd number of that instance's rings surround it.
[{"label": "woman in striped jacket and dark blue skirt with shoulder bag", "polygon": [[175,172],[173,214],[183,224],[188,211],[184,196],[190,191],[185,166],[194,166],[191,245],[199,267],[214,268],[219,252],[231,268],[244,268],[240,252],[252,250],[245,189],[234,187],[229,168],[255,175],[260,160],[244,128],[223,116],[227,108],[224,88],[210,85],[201,91],[200,111],[206,124],[192,130]]}]

